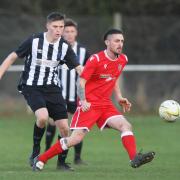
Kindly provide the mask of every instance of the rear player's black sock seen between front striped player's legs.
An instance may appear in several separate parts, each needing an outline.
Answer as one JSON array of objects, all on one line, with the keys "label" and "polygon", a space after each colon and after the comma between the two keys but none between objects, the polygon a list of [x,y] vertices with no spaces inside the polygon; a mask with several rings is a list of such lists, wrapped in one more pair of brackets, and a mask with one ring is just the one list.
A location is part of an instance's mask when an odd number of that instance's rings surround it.
[{"label": "rear player's black sock seen between front striped player's legs", "polygon": [[46,129],[46,150],[48,150],[51,147],[55,133],[56,133],[56,126],[48,124]]}]

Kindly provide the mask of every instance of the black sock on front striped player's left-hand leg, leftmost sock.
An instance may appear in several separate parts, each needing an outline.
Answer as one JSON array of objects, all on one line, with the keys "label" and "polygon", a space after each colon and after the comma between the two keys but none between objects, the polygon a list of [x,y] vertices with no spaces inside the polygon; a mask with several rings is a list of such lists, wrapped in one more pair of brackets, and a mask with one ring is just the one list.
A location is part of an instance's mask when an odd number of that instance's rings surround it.
[{"label": "black sock on front striped player's left-hand leg, leftmost sock", "polygon": [[33,152],[40,150],[40,143],[43,137],[45,128],[39,128],[36,123],[34,124],[34,132],[33,132]]}]

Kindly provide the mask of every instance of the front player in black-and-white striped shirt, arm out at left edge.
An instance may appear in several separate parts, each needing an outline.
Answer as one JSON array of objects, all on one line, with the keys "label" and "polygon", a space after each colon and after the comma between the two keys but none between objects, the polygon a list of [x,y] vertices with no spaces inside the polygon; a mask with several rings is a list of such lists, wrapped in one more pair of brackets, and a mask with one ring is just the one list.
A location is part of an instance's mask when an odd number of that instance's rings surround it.
[{"label": "front player in black-and-white striped shirt, arm out at left edge", "polygon": [[47,32],[33,34],[15,51],[9,54],[0,66],[0,79],[18,58],[25,58],[24,70],[19,83],[28,105],[35,113],[33,150],[30,165],[40,153],[40,142],[46,122],[51,117],[62,137],[69,135],[66,102],[59,86],[59,66],[66,64],[69,69],[81,73],[82,67],[71,46],[63,39],[64,15],[52,12],[47,16]]}]

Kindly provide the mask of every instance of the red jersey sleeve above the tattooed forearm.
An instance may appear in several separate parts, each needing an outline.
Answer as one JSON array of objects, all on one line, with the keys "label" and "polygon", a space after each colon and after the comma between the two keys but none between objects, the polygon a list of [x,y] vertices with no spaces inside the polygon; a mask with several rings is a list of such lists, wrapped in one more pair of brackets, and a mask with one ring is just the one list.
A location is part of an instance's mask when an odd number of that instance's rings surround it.
[{"label": "red jersey sleeve above the tattooed forearm", "polygon": [[85,80],[89,80],[96,70],[97,63],[98,63],[97,55],[92,55],[87,60],[85,66],[84,66],[84,70],[80,77]]}]

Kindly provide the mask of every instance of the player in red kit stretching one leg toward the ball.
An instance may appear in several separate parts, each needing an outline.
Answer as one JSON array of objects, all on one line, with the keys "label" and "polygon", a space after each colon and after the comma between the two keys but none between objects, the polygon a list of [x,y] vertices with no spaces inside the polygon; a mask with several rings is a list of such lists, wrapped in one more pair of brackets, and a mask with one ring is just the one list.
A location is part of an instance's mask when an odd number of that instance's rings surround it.
[{"label": "player in red kit stretching one leg toward the ball", "polygon": [[136,141],[131,124],[112,103],[112,92],[122,106],[123,112],[130,111],[131,103],[121,94],[119,76],[128,62],[122,53],[124,36],[118,29],[110,29],[104,35],[106,49],[92,55],[78,81],[79,106],[72,118],[70,137],[61,138],[49,150],[34,159],[33,170],[42,170],[44,164],[57,154],[81,142],[94,124],[121,132],[130,165],[137,168],[153,160],[155,152],[137,153]]}]

